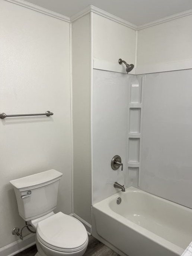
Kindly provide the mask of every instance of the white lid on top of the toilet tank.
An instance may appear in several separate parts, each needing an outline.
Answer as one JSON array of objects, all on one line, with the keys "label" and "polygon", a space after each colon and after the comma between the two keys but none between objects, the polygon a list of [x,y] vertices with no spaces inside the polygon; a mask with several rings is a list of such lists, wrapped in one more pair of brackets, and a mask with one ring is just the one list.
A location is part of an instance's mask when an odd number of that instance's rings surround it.
[{"label": "white lid on top of the toilet tank", "polygon": [[14,179],[10,181],[10,183],[17,189],[28,188],[31,186],[37,186],[37,185],[50,182],[54,179],[61,177],[62,175],[63,173],[58,172],[54,169],[51,169],[45,172],[39,172],[23,178]]}]

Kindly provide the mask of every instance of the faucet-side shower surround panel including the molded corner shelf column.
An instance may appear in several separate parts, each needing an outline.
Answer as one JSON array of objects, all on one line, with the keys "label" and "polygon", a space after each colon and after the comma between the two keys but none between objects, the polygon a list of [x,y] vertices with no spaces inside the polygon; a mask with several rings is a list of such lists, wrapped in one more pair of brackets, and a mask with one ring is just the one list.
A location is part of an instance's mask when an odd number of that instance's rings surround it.
[{"label": "faucet-side shower surround panel including the molded corner shelf column", "polygon": [[[125,188],[140,185],[144,80],[93,70],[93,204],[119,191],[115,181]],[[114,155],[121,157],[122,171],[111,169]]]}]

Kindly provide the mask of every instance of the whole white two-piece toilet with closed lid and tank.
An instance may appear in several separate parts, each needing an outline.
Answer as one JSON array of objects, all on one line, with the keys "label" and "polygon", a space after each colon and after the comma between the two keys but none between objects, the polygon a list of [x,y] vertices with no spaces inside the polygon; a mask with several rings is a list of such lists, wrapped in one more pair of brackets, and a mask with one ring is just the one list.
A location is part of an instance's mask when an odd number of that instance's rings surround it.
[{"label": "whole white two-piece toilet with closed lid and tank", "polygon": [[89,239],[83,224],[72,216],[53,212],[62,175],[52,169],[10,181],[19,215],[36,229],[35,256],[81,256],[87,249]]}]

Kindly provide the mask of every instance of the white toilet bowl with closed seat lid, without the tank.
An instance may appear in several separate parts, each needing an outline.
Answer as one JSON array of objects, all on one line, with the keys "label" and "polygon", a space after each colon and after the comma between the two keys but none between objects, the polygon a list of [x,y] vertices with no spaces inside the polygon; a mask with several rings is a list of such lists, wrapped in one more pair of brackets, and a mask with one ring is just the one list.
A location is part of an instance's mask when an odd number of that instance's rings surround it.
[{"label": "white toilet bowl with closed seat lid, without the tank", "polygon": [[[39,256],[81,256],[87,249],[88,235],[83,224],[62,212],[35,220]],[[33,225],[33,221],[31,221]]]}]

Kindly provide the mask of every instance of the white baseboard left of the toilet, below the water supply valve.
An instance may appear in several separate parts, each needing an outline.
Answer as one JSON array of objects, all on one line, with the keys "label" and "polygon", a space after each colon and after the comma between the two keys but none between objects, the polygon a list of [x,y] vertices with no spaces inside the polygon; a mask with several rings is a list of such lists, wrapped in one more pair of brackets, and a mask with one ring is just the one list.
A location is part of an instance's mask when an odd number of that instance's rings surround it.
[{"label": "white baseboard left of the toilet, below the water supply valve", "polygon": [[[12,234],[11,234],[12,235]],[[0,256],[13,256],[35,244],[35,235],[29,234],[23,240],[17,240],[0,248]]]}]

